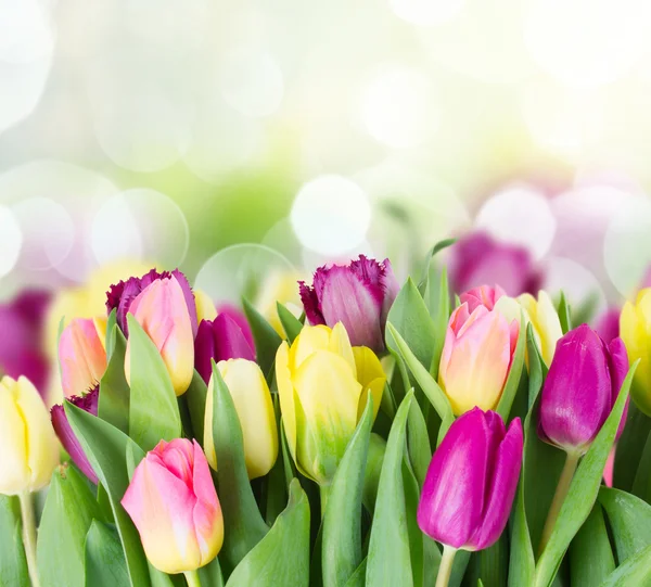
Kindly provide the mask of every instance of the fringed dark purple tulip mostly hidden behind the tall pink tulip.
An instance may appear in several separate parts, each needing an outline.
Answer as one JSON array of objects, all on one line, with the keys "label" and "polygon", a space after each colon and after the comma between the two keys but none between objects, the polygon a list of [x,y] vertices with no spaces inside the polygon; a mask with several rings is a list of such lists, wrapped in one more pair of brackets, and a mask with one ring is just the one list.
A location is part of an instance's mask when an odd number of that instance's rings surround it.
[{"label": "fringed dark purple tulip mostly hidden behind the tall pink tulip", "polygon": [[120,281],[115,285],[111,285],[111,289],[106,292],[106,309],[108,310],[108,314],[111,314],[113,309],[117,309],[117,323],[125,333],[125,336],[128,335],[127,314],[129,312],[133,299],[136,299],[142,290],[148,285],[151,285],[152,282],[157,279],[169,279],[173,277],[176,278],[183,291],[183,297],[186,298],[188,311],[190,312],[190,322],[192,323],[192,335],[196,336],[199,324],[196,321],[194,294],[192,293],[192,288],[190,288],[188,278],[178,269],[175,269],[174,271],[163,271],[162,273],[152,269],[149,273],[145,273],[140,278],[131,277],[127,279],[127,281]]}]

